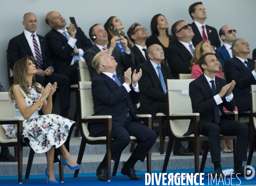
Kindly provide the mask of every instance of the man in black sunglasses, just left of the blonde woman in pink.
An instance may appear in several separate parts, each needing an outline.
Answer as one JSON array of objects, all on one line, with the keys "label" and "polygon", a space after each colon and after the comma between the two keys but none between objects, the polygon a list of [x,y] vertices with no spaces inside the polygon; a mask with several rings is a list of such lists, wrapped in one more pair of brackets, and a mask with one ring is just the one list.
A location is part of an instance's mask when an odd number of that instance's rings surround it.
[{"label": "man in black sunglasses, just left of the blonde woman in pink", "polygon": [[183,20],[172,25],[172,35],[177,41],[166,50],[166,59],[172,70],[172,78],[177,78],[178,74],[190,74],[190,60],[193,57],[195,43],[192,38],[195,35],[190,24]]}]

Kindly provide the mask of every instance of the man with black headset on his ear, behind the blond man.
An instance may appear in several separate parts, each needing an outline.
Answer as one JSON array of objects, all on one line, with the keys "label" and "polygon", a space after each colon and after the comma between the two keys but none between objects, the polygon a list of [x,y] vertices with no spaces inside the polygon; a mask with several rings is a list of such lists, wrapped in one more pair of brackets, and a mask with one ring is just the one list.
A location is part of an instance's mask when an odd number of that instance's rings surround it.
[{"label": "man with black headset on his ear, behind the blond man", "polygon": [[[93,57],[106,49],[109,50],[111,56],[115,57],[117,66],[115,69],[116,75],[124,75],[124,71],[134,64],[134,55],[131,50],[127,46],[127,40],[122,36],[114,36],[111,39],[110,46],[107,46],[108,42],[108,33],[103,26],[100,24],[93,25],[89,30],[90,39],[95,43],[95,45],[89,50],[84,52],[84,59],[89,68],[91,81],[99,76],[96,70],[92,67]],[[122,46],[125,49],[125,52],[122,53],[118,47],[116,47],[116,43],[121,42]]]}]

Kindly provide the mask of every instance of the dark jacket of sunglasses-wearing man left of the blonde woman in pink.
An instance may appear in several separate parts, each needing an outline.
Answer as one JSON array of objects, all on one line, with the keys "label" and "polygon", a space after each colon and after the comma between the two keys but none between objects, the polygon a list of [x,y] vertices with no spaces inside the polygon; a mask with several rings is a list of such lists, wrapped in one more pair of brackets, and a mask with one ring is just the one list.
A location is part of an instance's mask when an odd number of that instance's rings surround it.
[{"label": "dark jacket of sunglasses-wearing man left of the blonde woman in pink", "polygon": [[[196,46],[195,43],[193,43],[193,45],[194,47]],[[167,63],[172,70],[173,78],[177,78],[177,74],[191,73],[189,66],[191,66],[190,60],[193,56],[180,41],[177,40],[170,48],[168,48],[165,56]]]}]

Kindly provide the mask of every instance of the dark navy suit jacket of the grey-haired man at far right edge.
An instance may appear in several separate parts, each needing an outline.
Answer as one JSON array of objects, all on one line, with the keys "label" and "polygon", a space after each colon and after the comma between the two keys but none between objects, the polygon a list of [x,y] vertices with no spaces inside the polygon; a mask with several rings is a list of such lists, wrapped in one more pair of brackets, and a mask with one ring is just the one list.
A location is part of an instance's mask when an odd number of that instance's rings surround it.
[{"label": "dark navy suit jacket of the grey-haired man at far right edge", "polygon": [[[250,68],[254,69],[254,61],[247,59]],[[256,80],[250,70],[239,60],[233,57],[225,62],[225,76],[227,83],[236,81],[233,94],[236,99],[236,106],[239,112],[250,108],[250,85],[256,85]]]}]

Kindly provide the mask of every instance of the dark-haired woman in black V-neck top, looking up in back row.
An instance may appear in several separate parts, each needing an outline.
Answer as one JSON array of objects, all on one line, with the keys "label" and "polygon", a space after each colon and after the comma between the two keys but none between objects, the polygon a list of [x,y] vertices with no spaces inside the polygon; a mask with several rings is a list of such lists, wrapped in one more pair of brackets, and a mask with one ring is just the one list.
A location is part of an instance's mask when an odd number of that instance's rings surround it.
[{"label": "dark-haired woman in black V-neck top, looking up in back row", "polygon": [[169,24],[162,14],[156,14],[150,24],[151,36],[146,40],[147,48],[153,44],[162,46],[163,52],[172,46],[175,39],[169,34]]}]

